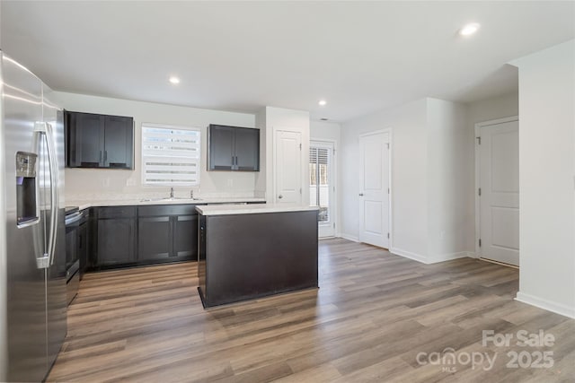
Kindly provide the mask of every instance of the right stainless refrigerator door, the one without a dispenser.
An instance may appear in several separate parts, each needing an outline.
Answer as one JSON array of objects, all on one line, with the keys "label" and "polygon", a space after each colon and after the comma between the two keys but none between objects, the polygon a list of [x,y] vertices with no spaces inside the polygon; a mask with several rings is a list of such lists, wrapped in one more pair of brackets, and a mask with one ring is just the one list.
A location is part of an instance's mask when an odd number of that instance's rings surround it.
[{"label": "right stainless refrigerator door, the one without a dispenser", "polygon": [[[44,94],[44,121],[49,124],[49,132],[46,139],[51,139],[56,149],[56,169],[57,169],[57,231],[56,231],[56,251],[54,261],[48,269],[47,279],[47,318],[48,318],[48,366],[52,366],[56,361],[57,353],[66,337],[66,227],[65,200],[64,200],[64,115],[61,109],[57,109],[52,102],[52,91],[43,85]],[[50,136],[51,135],[51,136]],[[44,141],[44,145],[47,143]],[[47,148],[46,148],[47,149]],[[48,152],[43,151],[43,152]],[[46,163],[46,161],[44,161]],[[49,182],[49,177],[47,182]],[[49,202],[49,199],[48,199]],[[50,222],[49,214],[51,209],[47,209],[46,222]],[[48,230],[47,230],[48,232]]]}]

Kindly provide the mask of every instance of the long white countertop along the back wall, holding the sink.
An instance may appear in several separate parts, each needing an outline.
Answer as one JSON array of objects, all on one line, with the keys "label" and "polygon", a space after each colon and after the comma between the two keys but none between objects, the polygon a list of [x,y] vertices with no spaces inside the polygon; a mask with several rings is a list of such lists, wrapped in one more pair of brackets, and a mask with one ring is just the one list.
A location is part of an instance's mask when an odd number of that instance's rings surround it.
[{"label": "long white countertop along the back wall, holding the sink", "polygon": [[198,199],[142,198],[142,199],[111,199],[111,200],[97,200],[97,201],[75,201],[66,199],[66,206],[78,206],[80,210],[83,210],[87,209],[88,207],[94,207],[94,206],[242,204],[244,202],[265,202],[265,198],[256,198],[256,197],[207,197]]}]

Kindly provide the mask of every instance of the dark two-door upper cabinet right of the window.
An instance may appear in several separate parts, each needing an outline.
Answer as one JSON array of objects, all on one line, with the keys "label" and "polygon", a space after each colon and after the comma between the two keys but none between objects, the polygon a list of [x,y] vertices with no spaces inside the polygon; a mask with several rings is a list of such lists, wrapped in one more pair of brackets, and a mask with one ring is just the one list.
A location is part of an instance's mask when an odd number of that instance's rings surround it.
[{"label": "dark two-door upper cabinet right of the window", "polygon": [[208,170],[260,171],[260,129],[208,126]]}]

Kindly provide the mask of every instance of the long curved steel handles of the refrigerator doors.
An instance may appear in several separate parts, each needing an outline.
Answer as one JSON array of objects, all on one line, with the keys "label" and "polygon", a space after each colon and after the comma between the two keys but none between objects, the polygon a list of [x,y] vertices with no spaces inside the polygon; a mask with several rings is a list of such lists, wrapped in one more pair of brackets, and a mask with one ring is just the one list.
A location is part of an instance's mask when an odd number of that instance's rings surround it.
[{"label": "long curved steel handles of the refrigerator doors", "polygon": [[47,253],[44,254],[44,257],[38,258],[37,260],[39,268],[48,268],[50,265],[54,265],[54,254],[56,253],[58,203],[56,147],[54,144],[52,126],[49,123],[37,123],[35,131],[46,137],[46,146],[48,148],[48,161],[50,171],[50,230]]}]

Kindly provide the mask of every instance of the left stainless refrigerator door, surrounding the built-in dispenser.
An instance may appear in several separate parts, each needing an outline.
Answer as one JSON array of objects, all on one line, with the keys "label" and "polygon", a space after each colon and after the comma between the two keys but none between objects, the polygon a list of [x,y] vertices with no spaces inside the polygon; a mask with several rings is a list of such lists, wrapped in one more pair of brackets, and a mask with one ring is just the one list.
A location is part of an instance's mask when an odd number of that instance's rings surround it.
[{"label": "left stainless refrigerator door, surrounding the built-in dispenser", "polygon": [[[18,225],[16,153],[41,156],[34,126],[42,120],[42,83],[13,62],[2,57],[4,81],[4,192],[6,198],[7,325],[9,381],[40,381],[47,372],[46,359],[46,269],[38,268],[37,257],[46,247],[46,206],[41,163],[36,164],[36,193],[39,220]],[[40,162],[40,161],[37,161]]]}]

